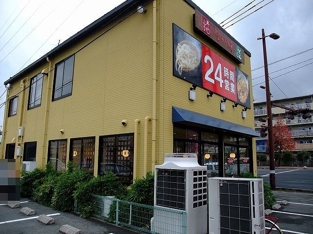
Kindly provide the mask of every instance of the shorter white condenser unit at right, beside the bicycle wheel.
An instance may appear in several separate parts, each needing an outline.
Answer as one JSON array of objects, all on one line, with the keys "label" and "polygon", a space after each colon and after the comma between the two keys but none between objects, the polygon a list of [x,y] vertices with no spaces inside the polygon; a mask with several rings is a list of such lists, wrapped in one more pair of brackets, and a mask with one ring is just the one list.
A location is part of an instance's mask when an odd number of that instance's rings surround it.
[{"label": "shorter white condenser unit at right, beside the bicycle wheel", "polygon": [[208,234],[265,234],[263,179],[208,178]]}]

